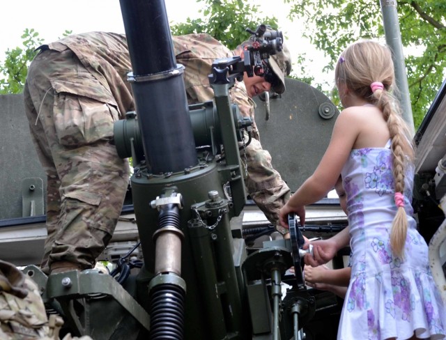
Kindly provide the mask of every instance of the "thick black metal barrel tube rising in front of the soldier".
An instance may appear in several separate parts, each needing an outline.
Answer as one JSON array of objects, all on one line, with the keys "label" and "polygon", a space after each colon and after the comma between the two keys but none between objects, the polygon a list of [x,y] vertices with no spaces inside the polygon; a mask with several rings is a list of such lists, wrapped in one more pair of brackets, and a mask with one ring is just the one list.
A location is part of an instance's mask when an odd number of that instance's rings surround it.
[{"label": "thick black metal barrel tube rising in front of the soldier", "polygon": [[176,64],[164,0],[120,0],[135,107],[151,173],[198,163],[183,67]]}]

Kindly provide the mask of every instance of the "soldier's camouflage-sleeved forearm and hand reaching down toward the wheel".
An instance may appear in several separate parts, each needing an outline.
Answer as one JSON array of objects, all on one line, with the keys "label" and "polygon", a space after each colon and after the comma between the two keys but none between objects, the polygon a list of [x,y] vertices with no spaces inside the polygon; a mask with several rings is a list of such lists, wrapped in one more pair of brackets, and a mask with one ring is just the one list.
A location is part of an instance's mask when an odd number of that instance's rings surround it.
[{"label": "soldier's camouflage-sleeved forearm and hand reaching down toward the wheel", "polygon": [[[246,132],[244,138],[247,141]],[[291,191],[272,167],[270,153],[263,150],[258,139],[252,138],[245,150],[240,150],[240,157],[243,167],[247,168],[245,186],[249,196],[279,233],[288,233],[289,230],[279,224],[279,210],[289,200]]]}]

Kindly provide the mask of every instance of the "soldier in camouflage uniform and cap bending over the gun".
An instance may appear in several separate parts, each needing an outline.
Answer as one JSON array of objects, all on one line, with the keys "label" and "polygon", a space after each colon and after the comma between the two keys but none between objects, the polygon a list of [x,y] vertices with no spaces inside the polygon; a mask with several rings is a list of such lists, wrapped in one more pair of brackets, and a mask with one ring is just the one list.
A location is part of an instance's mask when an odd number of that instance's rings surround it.
[{"label": "soldier in camouflage uniform and cap bending over the gun", "polygon": [[[173,37],[178,63],[185,66],[189,104],[213,99],[208,82],[215,59],[240,55],[206,34]],[[249,42],[245,42],[249,44]],[[84,270],[95,265],[121,213],[128,186],[128,161],[113,145],[113,124],[134,110],[127,40],[116,33],[68,36],[38,48],[24,88],[31,137],[47,173],[47,240],[44,272]],[[231,88],[243,116],[254,118],[252,98],[264,91],[283,93],[291,71],[284,46],[269,59],[266,77],[245,77]],[[278,224],[277,212],[290,190],[273,169],[254,124],[246,148],[247,192]],[[282,229],[283,231],[284,229]]]}]

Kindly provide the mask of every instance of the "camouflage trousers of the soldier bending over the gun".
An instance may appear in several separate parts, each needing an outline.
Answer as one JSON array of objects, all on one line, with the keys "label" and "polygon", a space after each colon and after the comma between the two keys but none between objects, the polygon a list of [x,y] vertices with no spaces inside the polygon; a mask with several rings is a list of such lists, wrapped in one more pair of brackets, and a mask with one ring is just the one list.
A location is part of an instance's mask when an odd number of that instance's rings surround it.
[{"label": "camouflage trousers of the soldier bending over the gun", "polygon": [[113,145],[116,102],[70,49],[45,50],[24,88],[31,137],[47,173],[42,269],[93,268],[112,238],[128,187],[127,160]]}]

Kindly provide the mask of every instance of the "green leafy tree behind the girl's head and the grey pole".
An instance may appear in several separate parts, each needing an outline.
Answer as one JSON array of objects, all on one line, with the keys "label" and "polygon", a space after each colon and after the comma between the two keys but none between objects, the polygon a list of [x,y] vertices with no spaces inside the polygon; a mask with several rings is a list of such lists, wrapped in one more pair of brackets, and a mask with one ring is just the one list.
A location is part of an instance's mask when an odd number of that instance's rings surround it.
[{"label": "green leafy tree behind the girl's head and the grey pole", "polygon": [[[305,25],[307,38],[330,57],[325,70],[333,70],[339,54],[351,42],[384,37],[378,0],[285,1],[294,3],[290,16]],[[446,1],[401,0],[397,10],[416,128],[445,77]]]}]

